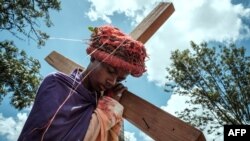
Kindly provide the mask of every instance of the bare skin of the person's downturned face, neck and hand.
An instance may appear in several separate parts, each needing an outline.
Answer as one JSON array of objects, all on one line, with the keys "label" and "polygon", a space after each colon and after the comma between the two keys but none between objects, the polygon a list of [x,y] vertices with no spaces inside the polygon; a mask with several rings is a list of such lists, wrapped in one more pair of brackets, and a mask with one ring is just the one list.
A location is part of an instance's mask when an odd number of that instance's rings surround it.
[{"label": "bare skin of the person's downturned face, neck and hand", "polygon": [[129,72],[117,69],[106,63],[102,63],[95,58],[90,59],[90,64],[83,72],[83,76],[87,77],[83,80],[83,85],[90,91],[97,93],[105,93],[112,91],[112,97],[119,101],[119,94],[123,93],[127,88],[121,84],[129,75]]}]

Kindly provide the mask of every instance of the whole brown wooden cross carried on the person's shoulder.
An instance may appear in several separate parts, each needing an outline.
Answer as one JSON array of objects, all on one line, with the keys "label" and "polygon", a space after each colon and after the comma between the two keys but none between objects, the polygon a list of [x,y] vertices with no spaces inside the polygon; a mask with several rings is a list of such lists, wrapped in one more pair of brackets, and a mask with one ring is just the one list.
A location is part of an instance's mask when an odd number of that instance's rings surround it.
[{"label": "whole brown wooden cross carried on the person's shoulder", "polygon": [[[130,33],[130,36],[142,43],[147,42],[173,12],[172,3],[159,3]],[[71,73],[75,68],[84,69],[55,51],[50,53],[45,60],[66,74]],[[120,103],[124,106],[124,118],[156,141],[205,141],[203,133],[198,129],[129,91],[123,93]]]}]

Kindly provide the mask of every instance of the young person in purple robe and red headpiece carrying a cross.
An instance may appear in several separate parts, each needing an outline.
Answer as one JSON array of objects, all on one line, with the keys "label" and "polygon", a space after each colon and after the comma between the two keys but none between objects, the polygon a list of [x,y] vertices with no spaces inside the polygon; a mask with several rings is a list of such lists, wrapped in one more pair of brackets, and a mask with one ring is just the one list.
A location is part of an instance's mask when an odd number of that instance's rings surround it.
[{"label": "young person in purple robe and red headpiece carrying a cross", "polygon": [[141,42],[111,25],[92,32],[86,70],[43,80],[19,141],[118,140],[123,112],[118,101],[126,90],[120,82],[146,71],[147,54]]}]

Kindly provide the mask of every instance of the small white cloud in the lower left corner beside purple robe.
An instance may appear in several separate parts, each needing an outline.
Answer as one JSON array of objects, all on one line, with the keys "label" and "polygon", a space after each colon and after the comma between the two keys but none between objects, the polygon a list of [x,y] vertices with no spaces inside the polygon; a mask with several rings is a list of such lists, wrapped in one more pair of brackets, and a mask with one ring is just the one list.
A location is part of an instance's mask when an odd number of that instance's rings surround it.
[{"label": "small white cloud in the lower left corner beside purple robe", "polygon": [[23,125],[27,119],[27,113],[17,113],[17,117],[4,117],[0,113],[0,136],[6,137],[8,141],[17,140]]}]

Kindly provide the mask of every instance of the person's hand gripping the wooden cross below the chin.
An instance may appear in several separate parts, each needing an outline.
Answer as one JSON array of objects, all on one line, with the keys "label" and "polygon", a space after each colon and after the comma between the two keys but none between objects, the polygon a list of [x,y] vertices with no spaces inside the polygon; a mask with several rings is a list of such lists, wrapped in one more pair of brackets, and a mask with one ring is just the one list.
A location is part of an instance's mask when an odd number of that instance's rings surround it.
[{"label": "person's hand gripping the wooden cross below the chin", "polygon": [[125,87],[122,83],[117,83],[113,88],[107,90],[107,95],[119,101],[122,97],[122,93],[127,89],[128,88]]}]

